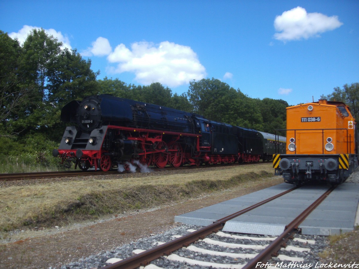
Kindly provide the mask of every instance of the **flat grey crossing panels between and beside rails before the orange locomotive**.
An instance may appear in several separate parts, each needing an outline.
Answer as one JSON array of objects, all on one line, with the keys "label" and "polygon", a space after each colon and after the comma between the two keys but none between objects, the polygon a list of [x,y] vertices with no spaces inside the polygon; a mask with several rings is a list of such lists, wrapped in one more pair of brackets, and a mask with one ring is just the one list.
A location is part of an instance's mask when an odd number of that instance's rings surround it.
[{"label": "flat grey crossing panels between and beside rails before the orange locomotive", "polygon": [[[174,221],[206,226],[229,214],[279,194],[293,185],[282,183],[255,193],[176,216]],[[303,186],[291,193],[228,221],[223,231],[279,235],[285,225],[320,197],[328,187]],[[343,183],[300,226],[303,234],[329,235],[354,229],[359,202],[359,184]]]}]

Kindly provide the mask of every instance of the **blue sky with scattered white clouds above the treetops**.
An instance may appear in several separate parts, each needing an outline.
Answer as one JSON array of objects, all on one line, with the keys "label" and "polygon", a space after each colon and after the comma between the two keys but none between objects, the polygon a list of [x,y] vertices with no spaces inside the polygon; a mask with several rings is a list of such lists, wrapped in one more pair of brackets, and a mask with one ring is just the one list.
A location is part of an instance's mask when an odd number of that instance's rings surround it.
[{"label": "blue sky with scattered white clouds above the treetops", "polygon": [[0,1],[0,30],[43,28],[90,58],[98,79],[220,79],[289,105],[359,82],[359,1]]}]

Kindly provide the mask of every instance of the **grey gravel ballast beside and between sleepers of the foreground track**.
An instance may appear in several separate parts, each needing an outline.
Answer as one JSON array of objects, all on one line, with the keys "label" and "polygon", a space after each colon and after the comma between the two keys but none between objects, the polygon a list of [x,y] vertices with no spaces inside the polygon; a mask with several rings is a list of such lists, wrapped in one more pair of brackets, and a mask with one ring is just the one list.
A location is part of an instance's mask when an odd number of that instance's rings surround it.
[{"label": "grey gravel ballast beside and between sleepers of the foreground track", "polygon": [[[350,178],[347,180],[347,182],[354,182],[359,183],[359,171],[355,171]],[[98,253],[96,255],[88,256],[87,258],[80,259],[78,261],[74,261],[72,263],[62,265],[61,269],[78,269],[78,268],[100,268],[102,266],[108,265],[106,261],[111,258],[119,258],[119,259],[125,259],[129,256],[132,256],[132,251],[136,249],[140,250],[147,250],[150,249],[156,245],[158,245],[158,242],[168,242],[173,239],[173,235],[185,235],[188,233],[187,230],[189,229],[198,229],[199,226],[191,226],[191,225],[181,225],[179,227],[172,228],[171,230],[165,231],[163,233],[158,233],[156,235],[146,237],[140,240],[137,240],[136,242],[132,241],[130,244],[125,244],[120,247],[117,247],[113,250],[106,251],[103,253]],[[247,235],[247,236],[254,236],[254,237],[260,237],[258,235]],[[290,257],[298,257],[303,258],[304,261],[302,262],[291,262],[291,261],[282,261],[279,258],[272,258],[269,263],[272,265],[277,265],[281,268],[294,268],[293,266],[302,266],[302,268],[318,268],[322,266],[327,266],[328,262],[326,260],[323,260],[320,258],[320,253],[322,253],[324,250],[329,249],[329,241],[328,238],[325,236],[310,236],[310,235],[296,235],[295,237],[301,238],[304,240],[314,240],[315,244],[306,244],[303,242],[293,241],[289,240],[287,242],[288,245],[297,246],[297,247],[305,247],[310,248],[310,251],[304,251],[304,252],[296,252],[296,251],[286,251],[284,249],[279,250],[278,254],[287,255]],[[238,240],[238,239],[227,239],[224,237],[218,238],[217,235],[210,235],[209,238],[214,240],[220,240],[220,241],[226,241],[230,243],[235,244],[251,244],[250,240]],[[355,242],[355,241],[354,241]],[[255,244],[261,245],[261,244],[268,244],[267,241],[256,241]],[[353,241],[351,241],[351,244],[353,244]],[[354,248],[358,247],[358,243],[355,242]],[[199,240],[194,243],[197,247],[202,247],[209,250],[214,251],[224,251],[224,252],[233,252],[233,253],[258,253],[258,250],[253,249],[228,249],[226,247],[219,247],[215,245],[208,245],[205,242],[202,242],[202,240]],[[247,263],[249,259],[235,259],[235,258],[229,258],[229,257],[223,257],[223,256],[212,256],[208,254],[198,254],[194,253],[192,251],[187,250],[186,248],[179,249],[174,252],[174,254],[177,254],[181,257],[190,258],[190,259],[196,259],[201,261],[208,261],[213,263],[221,263],[221,264],[243,264]],[[352,259],[355,262],[355,260],[358,257],[354,256]],[[162,257],[160,259],[157,259],[155,261],[151,262],[152,264],[155,264],[162,268],[195,268],[195,269],[204,269],[208,268],[207,266],[199,266],[199,265],[189,265],[189,264],[183,264],[178,263],[175,261],[170,261],[166,259],[165,257]],[[50,267],[52,268],[52,267]],[[299,267],[297,267],[299,268]]]}]

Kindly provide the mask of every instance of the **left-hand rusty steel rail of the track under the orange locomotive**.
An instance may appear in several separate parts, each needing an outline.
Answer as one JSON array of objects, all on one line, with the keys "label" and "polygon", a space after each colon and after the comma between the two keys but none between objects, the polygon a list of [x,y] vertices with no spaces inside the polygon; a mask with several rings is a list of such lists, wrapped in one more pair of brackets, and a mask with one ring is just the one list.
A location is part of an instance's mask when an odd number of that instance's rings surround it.
[{"label": "left-hand rusty steel rail of the track under the orange locomotive", "polygon": [[203,227],[195,232],[188,233],[187,235],[181,236],[177,239],[174,239],[172,241],[169,241],[163,245],[159,245],[156,247],[153,247],[152,249],[146,250],[142,253],[130,256],[129,258],[123,259],[121,261],[118,261],[116,263],[104,266],[104,269],[113,269],[113,268],[123,268],[123,269],[131,269],[131,268],[137,268],[139,266],[145,266],[150,263],[150,261],[155,260],[159,258],[162,255],[169,255],[171,252],[180,249],[182,246],[189,246],[191,243],[199,240],[204,239],[205,236],[210,235],[213,232],[217,232],[221,228],[223,228],[224,223],[232,220],[235,217],[238,217],[241,214],[244,214],[248,211],[251,211],[254,208],[257,208],[259,206],[262,206],[265,203],[268,203],[278,197],[281,197],[284,194],[287,194],[289,192],[292,192],[293,190],[297,189],[299,187],[294,187],[292,189],[286,190],[285,192],[282,192],[280,194],[277,194],[273,197],[270,197],[266,200],[263,200],[262,202],[259,202],[257,204],[254,204],[253,206],[247,207],[241,211],[238,211],[236,213],[233,213],[227,217],[221,218],[220,220],[217,220],[216,222]]}]

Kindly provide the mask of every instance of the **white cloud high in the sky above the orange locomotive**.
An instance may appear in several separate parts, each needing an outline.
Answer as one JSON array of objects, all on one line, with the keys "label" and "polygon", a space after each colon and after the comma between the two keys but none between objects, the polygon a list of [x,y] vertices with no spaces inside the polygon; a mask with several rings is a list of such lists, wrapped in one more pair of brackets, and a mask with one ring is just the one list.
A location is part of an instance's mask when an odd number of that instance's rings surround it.
[{"label": "white cloud high in the sky above the orange locomotive", "polygon": [[307,13],[304,8],[297,6],[276,16],[274,27],[280,33],[275,33],[274,38],[290,41],[318,37],[320,33],[334,30],[342,24],[338,16],[328,17],[321,13]]}]

